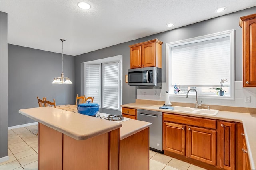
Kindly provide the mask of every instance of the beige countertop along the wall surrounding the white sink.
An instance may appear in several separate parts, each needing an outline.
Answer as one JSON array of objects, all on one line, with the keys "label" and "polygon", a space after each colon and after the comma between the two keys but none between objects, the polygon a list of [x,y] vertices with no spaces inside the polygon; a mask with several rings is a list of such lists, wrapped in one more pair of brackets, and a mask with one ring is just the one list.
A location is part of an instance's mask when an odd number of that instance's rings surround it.
[{"label": "beige countertop along the wall surrounding the white sink", "polygon": [[251,169],[255,170],[255,167],[256,167],[256,109],[255,109],[255,114],[219,111],[217,115],[213,116],[213,115],[185,113],[182,111],[175,111],[175,110],[169,110],[169,109],[159,109],[159,107],[161,107],[162,105],[154,105],[154,104],[147,104],[147,103],[129,103],[121,106],[134,108],[134,109],[146,109],[146,110],[160,111],[160,112],[166,112],[166,113],[176,113],[180,115],[190,115],[190,116],[205,117],[205,118],[211,118],[211,119],[241,122],[243,123],[244,134],[246,138],[246,146],[248,149],[248,156],[250,160]]}]

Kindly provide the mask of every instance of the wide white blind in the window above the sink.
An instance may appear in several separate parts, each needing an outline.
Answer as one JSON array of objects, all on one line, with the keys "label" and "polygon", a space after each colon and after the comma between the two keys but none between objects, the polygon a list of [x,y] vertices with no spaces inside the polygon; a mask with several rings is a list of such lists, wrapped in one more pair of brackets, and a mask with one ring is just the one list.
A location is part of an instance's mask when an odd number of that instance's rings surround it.
[{"label": "wide white blind in the window above the sink", "polygon": [[171,82],[182,86],[230,86],[230,36],[170,47]]}]

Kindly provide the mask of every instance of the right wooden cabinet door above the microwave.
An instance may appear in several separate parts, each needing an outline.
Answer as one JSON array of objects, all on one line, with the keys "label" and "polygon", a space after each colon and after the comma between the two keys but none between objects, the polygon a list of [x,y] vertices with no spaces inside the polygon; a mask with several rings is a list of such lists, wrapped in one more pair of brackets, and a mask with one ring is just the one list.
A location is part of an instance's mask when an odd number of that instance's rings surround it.
[{"label": "right wooden cabinet door above the microwave", "polygon": [[155,50],[156,43],[142,45],[142,67],[154,67],[156,65]]}]

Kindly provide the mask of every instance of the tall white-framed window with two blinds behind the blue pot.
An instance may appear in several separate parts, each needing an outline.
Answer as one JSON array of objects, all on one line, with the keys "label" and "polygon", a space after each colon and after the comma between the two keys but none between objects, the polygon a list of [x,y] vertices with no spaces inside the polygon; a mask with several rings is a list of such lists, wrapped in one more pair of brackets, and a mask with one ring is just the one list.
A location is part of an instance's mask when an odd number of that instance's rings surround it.
[{"label": "tall white-framed window with two blinds behind the blue pot", "polygon": [[122,55],[88,61],[84,65],[84,93],[105,109],[120,111]]}]

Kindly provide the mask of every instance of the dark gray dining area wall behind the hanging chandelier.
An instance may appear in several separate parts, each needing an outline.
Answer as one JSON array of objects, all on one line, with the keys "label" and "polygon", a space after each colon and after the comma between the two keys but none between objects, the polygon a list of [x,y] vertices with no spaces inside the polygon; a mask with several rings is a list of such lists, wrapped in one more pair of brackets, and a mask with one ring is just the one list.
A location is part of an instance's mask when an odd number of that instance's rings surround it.
[{"label": "dark gray dining area wall behind the hanging chandelier", "polygon": [[63,60],[64,75],[73,84],[52,84],[54,77],[60,77],[62,54],[8,44],[8,127],[35,122],[18,111],[38,107],[37,96],[55,98],[56,105],[74,104],[75,59],[63,55]]}]

